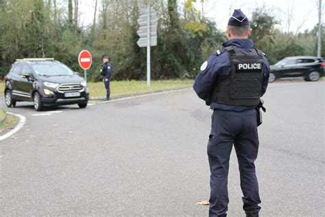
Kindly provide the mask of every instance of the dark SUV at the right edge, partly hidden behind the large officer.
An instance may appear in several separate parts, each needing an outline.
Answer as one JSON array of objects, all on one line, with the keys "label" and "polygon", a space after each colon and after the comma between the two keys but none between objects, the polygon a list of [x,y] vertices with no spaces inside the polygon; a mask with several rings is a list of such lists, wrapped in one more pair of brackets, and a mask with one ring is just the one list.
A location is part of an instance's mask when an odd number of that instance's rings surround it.
[{"label": "dark SUV at the right edge, partly hidden behind the large officer", "polygon": [[269,82],[279,78],[299,78],[317,81],[324,76],[325,60],[315,56],[289,56],[271,66]]}]

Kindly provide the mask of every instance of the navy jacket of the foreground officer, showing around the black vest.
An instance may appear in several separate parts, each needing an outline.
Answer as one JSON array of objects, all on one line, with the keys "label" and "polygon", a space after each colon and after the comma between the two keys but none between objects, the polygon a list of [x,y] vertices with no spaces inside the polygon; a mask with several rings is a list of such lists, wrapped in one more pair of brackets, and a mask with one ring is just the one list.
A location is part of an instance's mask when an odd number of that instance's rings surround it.
[{"label": "navy jacket of the foreground officer, showing around the black vest", "polygon": [[[242,49],[243,52],[252,52],[253,43],[250,39],[232,39],[223,44],[224,47],[232,46]],[[269,80],[269,62],[265,56],[263,56],[264,68],[263,68],[263,84],[262,84],[262,95],[267,89],[267,83]],[[211,94],[215,89],[216,81],[218,76],[230,76],[230,59],[226,51],[220,50],[220,54],[212,54],[208,58],[208,65],[206,68],[197,75],[193,88],[199,98],[204,101],[208,101],[211,98]],[[252,109],[252,107],[245,106],[228,106],[225,104],[218,104],[217,102],[212,102],[210,104],[211,109],[221,109],[229,111],[245,111],[247,109]]]}]

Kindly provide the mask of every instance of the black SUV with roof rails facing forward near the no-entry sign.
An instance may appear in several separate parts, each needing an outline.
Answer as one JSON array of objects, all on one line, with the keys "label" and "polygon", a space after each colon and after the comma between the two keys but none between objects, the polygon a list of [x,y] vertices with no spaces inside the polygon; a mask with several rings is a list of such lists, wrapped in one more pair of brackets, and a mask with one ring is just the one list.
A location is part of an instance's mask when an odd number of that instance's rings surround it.
[{"label": "black SUV with roof rails facing forward near the no-entry sign", "polygon": [[34,109],[44,106],[78,104],[86,108],[89,99],[84,78],[53,58],[16,60],[5,76],[5,104],[34,102]]}]

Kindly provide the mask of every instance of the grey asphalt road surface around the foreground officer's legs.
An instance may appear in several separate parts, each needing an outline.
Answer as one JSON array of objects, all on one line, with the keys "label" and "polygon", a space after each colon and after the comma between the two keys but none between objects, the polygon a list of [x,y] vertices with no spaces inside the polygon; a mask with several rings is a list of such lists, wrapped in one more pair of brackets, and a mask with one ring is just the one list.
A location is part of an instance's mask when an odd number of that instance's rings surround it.
[{"label": "grey asphalt road surface around the foreground officer's legs", "polygon": [[[324,216],[324,84],[269,84],[261,216]],[[5,108],[3,98],[1,107]],[[211,111],[193,90],[35,112],[0,142],[0,216],[207,216]],[[232,152],[228,216],[244,216]]]}]

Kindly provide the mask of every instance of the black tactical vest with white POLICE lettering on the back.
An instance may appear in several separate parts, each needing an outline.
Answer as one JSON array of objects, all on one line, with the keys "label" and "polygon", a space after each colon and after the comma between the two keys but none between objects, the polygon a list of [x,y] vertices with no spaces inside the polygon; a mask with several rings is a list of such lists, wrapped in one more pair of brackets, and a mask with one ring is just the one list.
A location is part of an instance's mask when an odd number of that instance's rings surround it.
[{"label": "black tactical vest with white POLICE lettering on the back", "polygon": [[225,48],[230,76],[217,76],[213,102],[230,106],[257,106],[262,93],[263,53],[253,49],[245,53],[237,47]]}]

